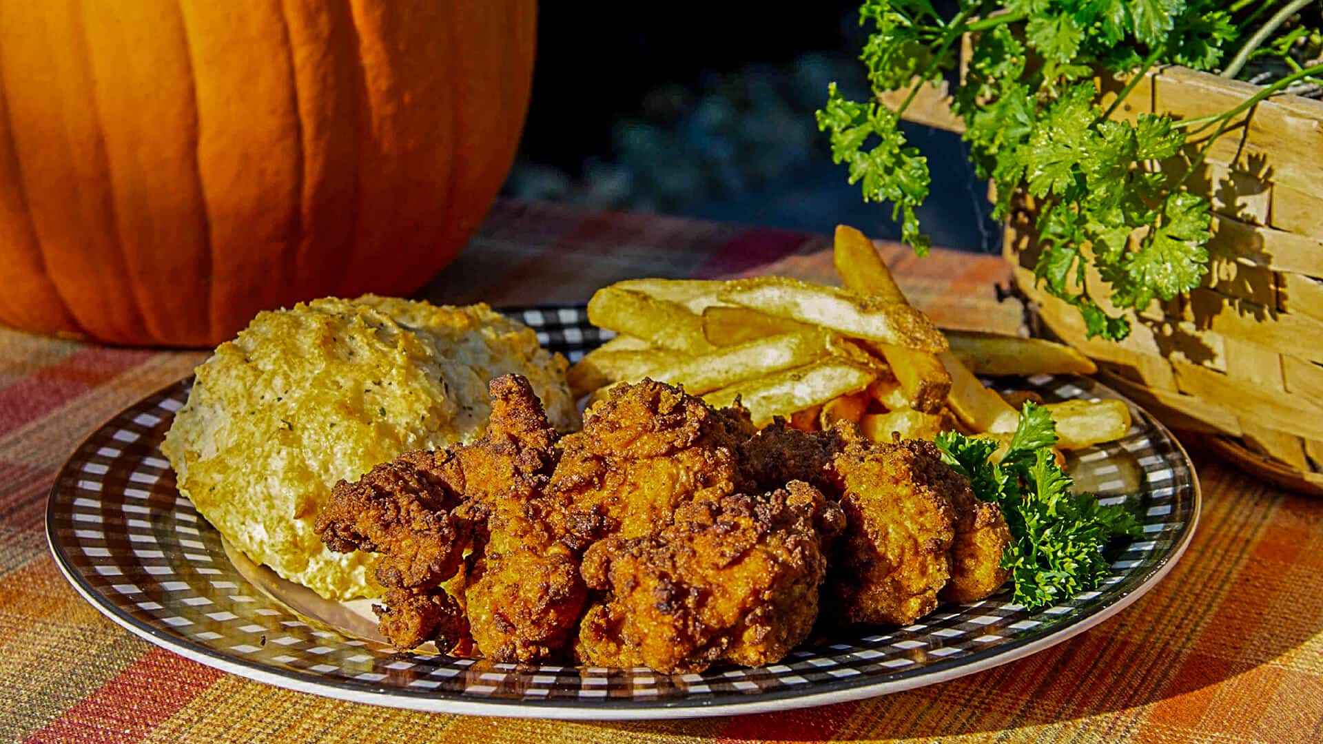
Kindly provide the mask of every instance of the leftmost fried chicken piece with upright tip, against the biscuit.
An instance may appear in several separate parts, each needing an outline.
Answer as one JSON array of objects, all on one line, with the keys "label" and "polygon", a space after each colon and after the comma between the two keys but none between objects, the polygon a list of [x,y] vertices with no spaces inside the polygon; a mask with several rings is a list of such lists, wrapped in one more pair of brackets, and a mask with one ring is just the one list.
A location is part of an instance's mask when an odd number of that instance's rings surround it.
[{"label": "leftmost fried chicken piece with upright tip, against the biscuit", "polygon": [[[335,551],[381,553],[376,575],[390,590],[373,608],[396,647],[426,641],[451,649],[471,633],[487,657],[533,661],[564,647],[586,589],[569,551],[557,548],[545,486],[557,433],[528,381],[488,385],[492,417],[472,445],[410,453],[340,482],[318,516]],[[463,604],[441,586],[462,581]],[[466,617],[467,616],[467,617]]]}]

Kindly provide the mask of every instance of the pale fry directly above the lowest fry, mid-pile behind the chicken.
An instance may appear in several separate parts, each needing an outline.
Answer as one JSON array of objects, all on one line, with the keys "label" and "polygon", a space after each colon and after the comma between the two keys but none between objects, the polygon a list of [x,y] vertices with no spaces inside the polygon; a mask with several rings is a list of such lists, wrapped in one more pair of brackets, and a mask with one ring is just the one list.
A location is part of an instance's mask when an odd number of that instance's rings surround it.
[{"label": "pale fry directly above the lowest fry, mid-pile behind the chicken", "polygon": [[636,379],[646,375],[662,383],[684,385],[685,392],[700,396],[744,380],[816,361],[831,353],[830,343],[828,334],[818,330],[807,334],[781,334],[646,369]]}]

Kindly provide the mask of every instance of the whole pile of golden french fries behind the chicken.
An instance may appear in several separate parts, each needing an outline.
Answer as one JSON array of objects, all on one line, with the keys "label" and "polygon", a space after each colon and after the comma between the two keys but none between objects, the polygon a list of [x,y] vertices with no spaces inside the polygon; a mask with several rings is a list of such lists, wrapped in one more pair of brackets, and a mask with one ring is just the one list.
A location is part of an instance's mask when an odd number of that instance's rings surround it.
[{"label": "whole pile of golden french fries behind the chicken", "polygon": [[[970,331],[941,331],[901,294],[872,241],[836,229],[844,289],[785,277],[631,279],[599,290],[589,320],[617,332],[570,368],[589,405],[611,385],[651,377],[683,385],[714,406],[738,398],[758,426],[785,417],[816,430],[852,421],[873,441],[931,440],[955,429],[1009,441],[1025,400],[999,395],[978,375],[1089,375],[1070,347]],[[1061,449],[1122,437],[1119,400],[1049,404]]]}]

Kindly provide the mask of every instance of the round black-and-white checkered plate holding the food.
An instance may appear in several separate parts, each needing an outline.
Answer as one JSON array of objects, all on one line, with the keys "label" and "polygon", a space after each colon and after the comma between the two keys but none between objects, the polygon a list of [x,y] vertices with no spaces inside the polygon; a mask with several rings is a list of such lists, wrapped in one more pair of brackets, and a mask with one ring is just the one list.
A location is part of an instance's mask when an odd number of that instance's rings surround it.
[{"label": "round black-and-white checkered plate holding the food", "polygon": [[[513,310],[572,359],[602,342],[582,307]],[[909,628],[815,639],[763,669],[660,675],[646,669],[516,666],[400,654],[288,608],[246,579],[221,536],[175,488],[159,445],[188,397],[181,380],[97,430],[61,471],[46,510],[52,552],[98,610],[152,643],[271,684],[425,711],[562,719],[650,719],[779,711],[953,679],[1065,641],[1151,589],[1199,519],[1199,483],[1175,438],[1131,405],[1118,442],[1068,469],[1106,503],[1139,500],[1144,534],[1114,556],[1098,590],[1025,612],[999,594],[943,605]],[[1121,397],[1084,377],[1019,380],[1048,400]]]}]

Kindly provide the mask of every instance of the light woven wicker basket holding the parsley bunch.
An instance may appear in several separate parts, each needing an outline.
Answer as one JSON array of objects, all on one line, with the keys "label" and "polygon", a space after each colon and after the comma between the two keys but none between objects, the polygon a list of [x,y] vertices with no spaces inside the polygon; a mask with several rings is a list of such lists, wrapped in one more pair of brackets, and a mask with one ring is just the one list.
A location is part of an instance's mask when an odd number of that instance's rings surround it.
[{"label": "light woven wicker basket holding the parsley bunch", "polygon": [[[1147,74],[1115,115],[1201,116],[1256,90],[1164,68]],[[962,128],[943,93],[926,87],[906,118]],[[1188,297],[1127,311],[1126,340],[1086,339],[1078,312],[1035,286],[1032,204],[1021,201],[1008,218],[1003,250],[1043,326],[1097,360],[1103,381],[1174,428],[1208,434],[1248,469],[1323,495],[1323,102],[1279,95],[1244,120],[1187,181],[1213,204],[1209,274]],[[1115,312],[1097,273],[1086,282]]]}]

